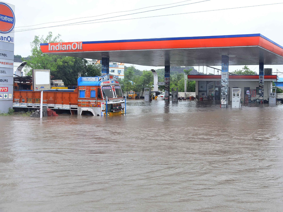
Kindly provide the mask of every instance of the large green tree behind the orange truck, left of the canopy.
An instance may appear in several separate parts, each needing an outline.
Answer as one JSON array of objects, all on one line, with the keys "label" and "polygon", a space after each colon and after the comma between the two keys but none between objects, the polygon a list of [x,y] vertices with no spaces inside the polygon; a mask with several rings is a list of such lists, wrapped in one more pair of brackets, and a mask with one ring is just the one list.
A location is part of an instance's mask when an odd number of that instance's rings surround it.
[{"label": "large green tree behind the orange truck, left of the canopy", "polygon": [[78,76],[97,76],[101,75],[100,65],[87,64],[87,60],[77,57],[67,57],[62,55],[43,54],[40,50],[40,43],[63,42],[60,34],[53,37],[49,32],[46,38],[35,36],[31,42],[31,56],[27,60],[27,75],[31,76],[31,69],[50,69],[53,79],[62,79],[65,85],[76,85]]}]

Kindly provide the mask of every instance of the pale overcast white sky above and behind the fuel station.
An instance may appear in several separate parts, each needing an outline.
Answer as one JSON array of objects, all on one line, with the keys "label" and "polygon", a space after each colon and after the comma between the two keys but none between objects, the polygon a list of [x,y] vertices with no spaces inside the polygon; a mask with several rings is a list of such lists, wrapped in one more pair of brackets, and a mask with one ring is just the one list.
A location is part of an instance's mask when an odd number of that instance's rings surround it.
[{"label": "pale overcast white sky above and behind the fuel station", "polygon": [[[22,57],[26,57],[31,54],[30,43],[33,41],[34,36],[46,36],[49,31],[51,31],[53,35],[60,34],[61,39],[65,42],[260,33],[283,46],[283,21],[281,18],[283,4],[134,20],[111,21],[104,23],[83,22],[88,24],[21,31],[31,28],[50,27],[66,23],[97,20],[101,18],[108,19],[100,21],[110,21],[222,8],[283,3],[283,0],[10,0],[6,2],[15,5],[16,32],[14,54],[22,55]],[[193,4],[183,5],[189,3]],[[165,4],[171,5],[151,7]],[[155,10],[176,5],[183,6]],[[135,10],[139,8],[144,9]],[[126,10],[134,11],[121,12]],[[155,11],[143,12],[147,10]],[[136,12],[143,13],[109,18]],[[96,17],[82,18],[89,16]],[[64,22],[46,23],[55,21]],[[135,67],[140,70],[160,68],[140,65],[135,65]],[[229,71],[241,69],[242,67],[243,66],[229,66]],[[198,69],[198,67],[196,68]],[[249,66],[249,68],[258,72],[258,65]],[[276,69],[283,72],[283,65],[265,65],[265,68],[273,68],[273,73],[276,72]]]}]

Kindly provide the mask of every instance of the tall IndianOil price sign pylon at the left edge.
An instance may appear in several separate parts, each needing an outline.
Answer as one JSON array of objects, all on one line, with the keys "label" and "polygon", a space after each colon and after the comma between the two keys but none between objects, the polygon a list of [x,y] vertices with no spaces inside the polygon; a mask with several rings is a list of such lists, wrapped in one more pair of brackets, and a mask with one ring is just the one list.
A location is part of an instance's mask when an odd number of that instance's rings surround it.
[{"label": "tall IndianOil price sign pylon at the left edge", "polygon": [[14,26],[15,6],[0,1],[0,113],[13,108]]}]

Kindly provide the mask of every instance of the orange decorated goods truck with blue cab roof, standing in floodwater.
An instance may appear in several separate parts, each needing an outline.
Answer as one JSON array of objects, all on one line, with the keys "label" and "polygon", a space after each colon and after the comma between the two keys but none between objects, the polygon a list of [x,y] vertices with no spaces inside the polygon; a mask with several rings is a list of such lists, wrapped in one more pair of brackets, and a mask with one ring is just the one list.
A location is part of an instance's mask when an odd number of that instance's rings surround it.
[{"label": "orange decorated goods truck with blue cab roof, standing in floodwater", "polygon": [[[124,114],[125,98],[118,77],[79,77],[76,89],[51,89],[43,92],[43,107],[70,114],[105,116]],[[32,80],[14,78],[13,108],[40,107],[40,91],[32,90]]]}]

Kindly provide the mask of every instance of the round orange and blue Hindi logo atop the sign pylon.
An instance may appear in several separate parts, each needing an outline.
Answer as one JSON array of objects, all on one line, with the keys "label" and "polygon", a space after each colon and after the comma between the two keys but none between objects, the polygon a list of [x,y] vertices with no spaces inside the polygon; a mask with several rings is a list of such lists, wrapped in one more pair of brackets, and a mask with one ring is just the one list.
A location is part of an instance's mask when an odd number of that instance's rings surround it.
[{"label": "round orange and blue Hindi logo atop the sign pylon", "polygon": [[15,14],[7,4],[0,2],[0,33],[9,33],[15,26]]}]

